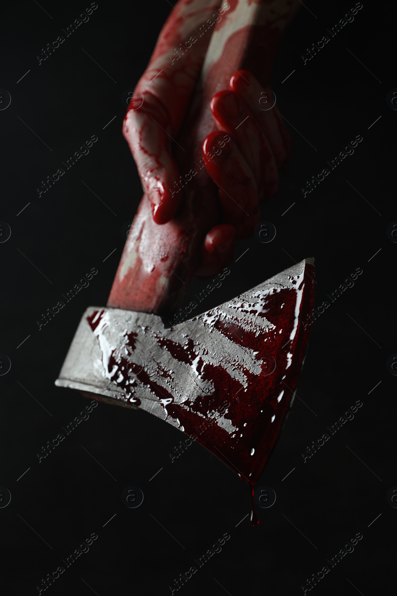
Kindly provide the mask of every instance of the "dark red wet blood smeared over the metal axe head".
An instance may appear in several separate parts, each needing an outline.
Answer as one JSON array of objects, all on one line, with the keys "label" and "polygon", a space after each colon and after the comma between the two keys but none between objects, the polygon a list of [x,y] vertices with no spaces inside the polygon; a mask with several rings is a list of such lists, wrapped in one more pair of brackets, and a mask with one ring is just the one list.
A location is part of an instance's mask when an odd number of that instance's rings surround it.
[{"label": "dark red wet blood smeared over the metal axe head", "polygon": [[[205,358],[205,362],[202,357],[198,359],[199,348],[196,347],[194,337],[187,337],[179,343],[170,339],[173,331],[168,337],[159,335],[156,339],[157,347],[189,367],[194,362],[195,371],[201,380],[210,381],[213,387],[210,393],[203,392],[203,395],[192,398],[192,401],[188,399],[183,403],[175,403],[173,395],[156,381],[161,376],[171,378],[169,368],[164,368],[159,363],[157,371],[152,371],[149,375],[139,365],[130,363],[121,356],[120,350],[117,355],[112,353],[106,371],[107,375],[111,375],[112,381],[123,389],[127,398],[129,395],[133,397],[136,390],[139,394],[140,385],[149,386],[158,401],[162,400],[166,417],[179,420],[180,427],[183,427],[186,434],[195,436],[198,443],[248,482],[251,488],[260,477],[282,430],[308,343],[308,317],[314,300],[314,267],[307,263],[304,275],[298,276],[295,285],[294,281],[296,280],[292,280],[293,287],[273,289],[265,293],[265,300],[261,305],[257,299],[255,304],[246,303],[245,299],[244,302],[239,302],[239,297],[232,301],[230,308],[250,313],[255,318],[266,318],[274,325],[270,330],[255,323],[250,328],[233,315],[226,318],[218,316],[216,309],[202,315],[208,318],[215,313],[212,327],[207,326],[208,333],[212,333],[212,329],[216,330],[243,351],[257,352],[255,358],[262,361],[261,374],[254,374],[236,361],[236,370],[246,377],[245,388],[226,368],[212,364],[211,358]],[[296,300],[298,291],[302,289],[297,318]],[[93,331],[103,313],[104,311],[99,312],[95,323],[92,321],[98,311],[89,317]],[[197,319],[199,325],[200,316]],[[252,322],[252,319],[247,318],[244,321]],[[290,340],[295,324],[295,336]],[[124,339],[130,351],[136,350],[139,333],[126,334]],[[205,351],[202,352],[203,356],[204,354]],[[114,374],[111,373],[113,367]],[[126,382],[129,380],[127,370],[135,375],[135,383]],[[224,429],[223,423],[218,424],[218,414],[224,415],[223,420],[229,421],[236,431],[229,432]],[[255,512],[252,515],[252,523],[256,524]]]}]

